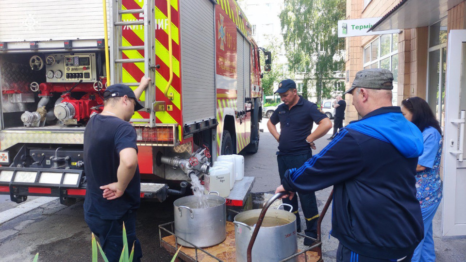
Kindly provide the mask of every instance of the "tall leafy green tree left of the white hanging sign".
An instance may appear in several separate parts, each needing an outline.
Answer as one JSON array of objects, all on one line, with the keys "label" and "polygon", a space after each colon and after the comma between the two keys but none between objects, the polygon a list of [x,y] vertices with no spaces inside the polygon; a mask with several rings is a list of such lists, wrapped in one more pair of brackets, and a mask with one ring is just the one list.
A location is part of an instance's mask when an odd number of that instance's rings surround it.
[{"label": "tall leafy green tree left of the white hanging sign", "polygon": [[303,75],[303,97],[308,86],[316,86],[317,102],[330,97],[335,68],[343,65],[338,52],[337,21],[344,19],[344,0],[285,0],[280,20],[290,70]]}]

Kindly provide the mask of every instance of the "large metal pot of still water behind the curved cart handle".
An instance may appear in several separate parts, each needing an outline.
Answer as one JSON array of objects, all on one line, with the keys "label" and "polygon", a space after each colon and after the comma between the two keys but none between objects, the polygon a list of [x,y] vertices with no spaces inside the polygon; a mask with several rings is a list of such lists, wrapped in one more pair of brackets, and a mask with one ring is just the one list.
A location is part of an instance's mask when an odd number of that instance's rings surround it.
[{"label": "large metal pot of still water behind the curved cart handle", "polygon": [[270,198],[262,210],[245,211],[234,217],[237,262],[246,262],[248,257],[253,262],[281,261],[298,252],[295,214],[279,209],[267,211],[271,202],[281,196],[279,193]]}]

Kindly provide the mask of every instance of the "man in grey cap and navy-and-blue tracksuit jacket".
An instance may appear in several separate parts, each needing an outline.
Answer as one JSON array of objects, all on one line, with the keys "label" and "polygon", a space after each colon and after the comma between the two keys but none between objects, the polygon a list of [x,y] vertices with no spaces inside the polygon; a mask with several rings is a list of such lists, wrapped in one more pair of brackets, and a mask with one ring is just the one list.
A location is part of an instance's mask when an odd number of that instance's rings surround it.
[{"label": "man in grey cap and navy-and-blue tracksuit jacket", "polygon": [[392,106],[392,81],[386,69],[359,71],[345,94],[362,119],[300,168],[287,170],[276,191],[333,185],[331,234],[340,241],[339,262],[408,262],[424,235],[415,179],[422,133]]}]

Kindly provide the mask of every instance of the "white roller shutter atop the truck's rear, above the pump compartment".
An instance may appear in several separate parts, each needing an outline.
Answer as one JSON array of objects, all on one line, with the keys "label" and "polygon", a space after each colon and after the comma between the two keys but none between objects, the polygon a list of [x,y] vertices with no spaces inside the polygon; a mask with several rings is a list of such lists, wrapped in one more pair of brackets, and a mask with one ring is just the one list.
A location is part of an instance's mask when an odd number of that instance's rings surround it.
[{"label": "white roller shutter atop the truck's rear, above the pump compartment", "polygon": [[0,24],[2,42],[101,39],[102,1],[0,0]]}]

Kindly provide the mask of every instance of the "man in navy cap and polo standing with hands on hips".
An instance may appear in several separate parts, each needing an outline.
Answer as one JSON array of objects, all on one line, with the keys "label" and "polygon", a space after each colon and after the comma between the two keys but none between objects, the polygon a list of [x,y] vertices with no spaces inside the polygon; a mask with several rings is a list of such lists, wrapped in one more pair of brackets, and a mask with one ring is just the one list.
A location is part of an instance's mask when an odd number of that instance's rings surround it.
[{"label": "man in navy cap and polo standing with hands on hips", "polygon": [[[280,180],[286,170],[300,167],[312,157],[312,149],[316,149],[314,141],[325,135],[331,128],[332,122],[317,105],[298,95],[296,83],[286,79],[280,82],[279,89],[275,93],[280,94],[283,104],[279,105],[267,122],[267,128],[278,141],[278,172]],[[280,133],[276,125],[280,123]],[[313,123],[318,125],[311,133]],[[314,192],[299,193],[301,209],[306,219],[306,236],[317,237],[317,209],[316,195]],[[283,203],[290,204],[296,215],[298,232],[301,230],[300,214],[298,213],[298,197],[283,199]],[[288,210],[287,207],[284,207]],[[313,241],[304,239],[304,245],[311,246]]]}]

